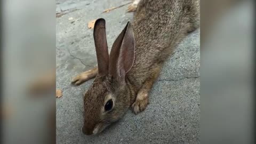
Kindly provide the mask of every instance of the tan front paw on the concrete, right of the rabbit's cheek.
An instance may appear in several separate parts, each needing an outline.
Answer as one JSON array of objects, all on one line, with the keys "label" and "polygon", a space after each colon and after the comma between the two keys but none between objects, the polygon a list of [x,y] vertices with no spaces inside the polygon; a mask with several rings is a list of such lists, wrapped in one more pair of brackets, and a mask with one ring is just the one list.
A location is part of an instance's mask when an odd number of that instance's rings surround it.
[{"label": "tan front paw on the concrete, right of the rabbit's cheek", "polygon": [[140,113],[141,111],[145,110],[148,106],[148,93],[145,91],[140,91],[137,94],[137,98],[135,102],[132,104],[133,112],[135,114]]}]

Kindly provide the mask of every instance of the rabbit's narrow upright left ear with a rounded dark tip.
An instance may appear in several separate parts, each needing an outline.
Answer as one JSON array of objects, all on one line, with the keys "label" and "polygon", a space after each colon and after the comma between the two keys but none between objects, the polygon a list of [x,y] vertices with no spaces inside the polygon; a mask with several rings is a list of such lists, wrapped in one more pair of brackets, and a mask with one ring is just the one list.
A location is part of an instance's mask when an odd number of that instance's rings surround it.
[{"label": "rabbit's narrow upright left ear with a rounded dark tip", "polygon": [[108,44],[106,38],[105,20],[98,19],[95,21],[93,38],[97,54],[98,61],[98,73],[99,75],[108,74]]}]

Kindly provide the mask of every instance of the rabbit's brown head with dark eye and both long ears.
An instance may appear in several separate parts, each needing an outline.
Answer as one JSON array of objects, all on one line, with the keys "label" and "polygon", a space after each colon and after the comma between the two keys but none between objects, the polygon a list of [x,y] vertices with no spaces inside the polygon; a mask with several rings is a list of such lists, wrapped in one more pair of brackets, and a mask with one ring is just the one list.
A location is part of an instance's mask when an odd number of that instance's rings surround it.
[{"label": "rabbit's brown head with dark eye and both long ears", "polygon": [[130,107],[131,98],[125,76],[133,66],[135,42],[130,22],[116,38],[110,55],[105,20],[95,21],[93,37],[98,61],[98,75],[84,95],[86,135],[97,134],[122,118]]}]

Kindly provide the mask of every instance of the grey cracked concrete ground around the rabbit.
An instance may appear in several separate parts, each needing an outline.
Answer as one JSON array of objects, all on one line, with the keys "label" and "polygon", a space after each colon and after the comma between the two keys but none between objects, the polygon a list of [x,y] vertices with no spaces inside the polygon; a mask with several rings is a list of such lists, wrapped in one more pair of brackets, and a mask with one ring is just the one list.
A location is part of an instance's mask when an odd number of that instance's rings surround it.
[{"label": "grey cracked concrete ground around the rabbit", "polygon": [[[165,63],[150,93],[150,104],[138,115],[127,111],[123,119],[99,135],[87,136],[83,125],[82,95],[93,79],[80,86],[71,78],[97,64],[90,20],[105,18],[109,48],[133,14],[127,5],[108,13],[111,7],[130,1],[58,0],[56,11],[75,10],[56,18],[57,143],[199,143],[200,127],[200,44],[199,29],[189,34]],[[109,50],[110,51],[110,50]]]}]

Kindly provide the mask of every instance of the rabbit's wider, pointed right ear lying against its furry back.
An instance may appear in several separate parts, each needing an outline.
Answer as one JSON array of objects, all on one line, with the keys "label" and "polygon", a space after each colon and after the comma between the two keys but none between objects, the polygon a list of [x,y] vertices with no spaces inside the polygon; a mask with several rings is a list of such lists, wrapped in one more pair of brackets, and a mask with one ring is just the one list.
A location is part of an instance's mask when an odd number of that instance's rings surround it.
[{"label": "rabbit's wider, pointed right ear lying against its furry back", "polygon": [[132,68],[135,59],[135,42],[130,22],[116,38],[109,60],[109,75],[124,81],[125,75]]}]

